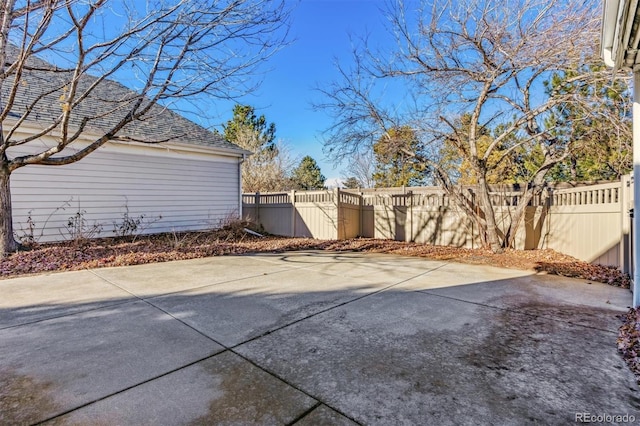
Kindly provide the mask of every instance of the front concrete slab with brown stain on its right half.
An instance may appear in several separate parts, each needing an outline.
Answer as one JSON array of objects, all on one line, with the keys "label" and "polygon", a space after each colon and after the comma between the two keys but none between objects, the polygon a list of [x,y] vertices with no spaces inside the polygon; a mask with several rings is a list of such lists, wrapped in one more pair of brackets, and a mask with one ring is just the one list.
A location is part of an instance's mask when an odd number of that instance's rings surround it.
[{"label": "front concrete slab with brown stain on its right half", "polygon": [[315,404],[313,398],[226,351],[50,424],[284,425]]}]

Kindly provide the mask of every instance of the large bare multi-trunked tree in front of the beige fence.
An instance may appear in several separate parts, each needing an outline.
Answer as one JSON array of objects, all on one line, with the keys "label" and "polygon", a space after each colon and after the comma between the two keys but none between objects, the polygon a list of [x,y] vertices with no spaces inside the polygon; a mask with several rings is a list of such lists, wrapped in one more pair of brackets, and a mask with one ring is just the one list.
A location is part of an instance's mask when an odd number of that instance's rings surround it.
[{"label": "large bare multi-trunked tree in front of the beige fence", "polygon": [[[411,3],[415,5],[415,2]],[[335,155],[389,135],[399,124],[423,137],[421,152],[409,152],[428,166],[452,199],[484,232],[494,251],[514,243],[527,204],[540,191],[549,170],[563,161],[573,129],[562,138],[547,120],[554,109],[571,105],[582,117],[608,120],[576,90],[545,84],[554,73],[574,72],[566,84],[591,84],[606,77],[595,72],[599,3],[595,0],[433,0],[419,8],[393,2],[387,10],[392,52],[364,48],[353,69],[339,67],[341,80],[323,90],[335,117],[327,145]],[[415,107],[381,103],[379,83],[401,80],[405,99]],[[377,95],[374,98],[373,95]],[[390,111],[405,110],[403,115]],[[465,126],[460,126],[461,118]],[[575,123],[577,125],[577,123]],[[490,129],[487,138],[485,129]],[[440,161],[445,142],[465,160],[477,182],[469,197]],[[498,227],[488,174],[516,153],[539,153],[512,221]]]}]

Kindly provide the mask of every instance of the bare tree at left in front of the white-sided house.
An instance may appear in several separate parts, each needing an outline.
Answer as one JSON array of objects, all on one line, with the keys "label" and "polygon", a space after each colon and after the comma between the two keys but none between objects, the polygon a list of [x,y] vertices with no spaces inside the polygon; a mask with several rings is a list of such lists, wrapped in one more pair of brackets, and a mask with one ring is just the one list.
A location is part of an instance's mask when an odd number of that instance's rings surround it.
[{"label": "bare tree at left in front of the white-sided house", "polygon": [[[287,22],[284,1],[0,3],[0,256],[17,248],[12,172],[69,164],[110,140],[163,141],[137,126],[169,106],[251,90]],[[180,133],[169,130],[166,140]]]}]

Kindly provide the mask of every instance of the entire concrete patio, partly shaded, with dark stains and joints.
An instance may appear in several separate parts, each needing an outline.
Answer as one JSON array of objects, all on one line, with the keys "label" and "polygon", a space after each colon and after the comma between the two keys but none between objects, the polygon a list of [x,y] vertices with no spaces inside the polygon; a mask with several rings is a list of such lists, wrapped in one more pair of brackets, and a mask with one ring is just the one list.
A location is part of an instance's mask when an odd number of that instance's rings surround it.
[{"label": "entire concrete patio, partly shaded, with dark stains and joints", "polygon": [[584,280],[360,253],[3,280],[0,424],[638,421],[615,346],[630,304]]}]

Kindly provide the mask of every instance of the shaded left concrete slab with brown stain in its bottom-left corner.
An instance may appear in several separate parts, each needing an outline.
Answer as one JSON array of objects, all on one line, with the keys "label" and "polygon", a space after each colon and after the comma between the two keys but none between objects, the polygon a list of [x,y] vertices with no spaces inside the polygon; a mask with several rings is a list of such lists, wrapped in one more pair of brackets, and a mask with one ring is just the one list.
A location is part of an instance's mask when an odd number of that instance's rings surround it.
[{"label": "shaded left concrete slab with brown stain in its bottom-left corner", "polygon": [[40,422],[223,350],[139,301],[0,330],[0,342],[0,424]]}]

